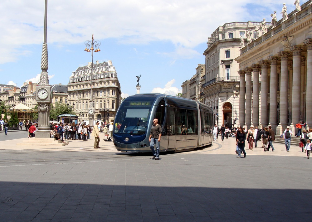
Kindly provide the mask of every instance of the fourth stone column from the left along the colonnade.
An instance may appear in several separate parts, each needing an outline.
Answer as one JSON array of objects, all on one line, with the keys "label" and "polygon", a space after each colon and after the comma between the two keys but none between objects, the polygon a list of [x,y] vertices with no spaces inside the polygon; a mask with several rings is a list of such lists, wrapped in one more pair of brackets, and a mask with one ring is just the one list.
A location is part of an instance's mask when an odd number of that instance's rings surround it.
[{"label": "fourth stone column from the left along the colonnade", "polygon": [[268,65],[267,60],[261,60],[261,119],[259,128],[268,125]]}]

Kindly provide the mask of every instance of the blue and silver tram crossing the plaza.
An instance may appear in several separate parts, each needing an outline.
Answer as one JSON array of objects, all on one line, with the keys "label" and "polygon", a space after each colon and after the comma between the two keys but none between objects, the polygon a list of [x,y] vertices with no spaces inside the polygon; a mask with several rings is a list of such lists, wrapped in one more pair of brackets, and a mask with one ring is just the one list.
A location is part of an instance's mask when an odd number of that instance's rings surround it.
[{"label": "blue and silver tram crossing the plaza", "polygon": [[113,141],[117,150],[151,152],[153,119],[162,127],[160,152],[193,150],[212,144],[212,109],[206,104],[165,94],[135,94],[120,104]]}]

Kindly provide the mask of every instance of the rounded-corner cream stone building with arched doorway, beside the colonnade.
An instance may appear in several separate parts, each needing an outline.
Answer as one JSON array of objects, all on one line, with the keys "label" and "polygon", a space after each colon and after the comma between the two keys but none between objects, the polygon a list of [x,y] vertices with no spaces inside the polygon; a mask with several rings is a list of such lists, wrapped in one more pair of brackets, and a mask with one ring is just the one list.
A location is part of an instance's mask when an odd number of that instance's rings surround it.
[{"label": "rounded-corner cream stone building with arched doorway, beside the colonnade", "polygon": [[[271,23],[265,23],[268,27]],[[215,124],[237,126],[239,119],[239,64],[244,44],[259,35],[261,22],[231,22],[219,26],[208,38],[205,56],[205,83],[202,91],[205,103],[212,107]]]}]

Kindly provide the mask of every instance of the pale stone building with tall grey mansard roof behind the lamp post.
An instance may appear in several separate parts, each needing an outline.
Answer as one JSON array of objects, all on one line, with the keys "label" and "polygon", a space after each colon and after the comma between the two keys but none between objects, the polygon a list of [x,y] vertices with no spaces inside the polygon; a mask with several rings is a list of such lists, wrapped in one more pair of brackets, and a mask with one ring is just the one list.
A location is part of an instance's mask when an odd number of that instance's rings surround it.
[{"label": "pale stone building with tall grey mansard roof behind the lamp post", "polygon": [[[88,119],[91,90],[91,62],[78,67],[68,83],[68,103],[74,106],[77,114]],[[120,105],[121,90],[117,72],[112,61],[96,61],[93,64],[93,102],[95,104],[95,120],[113,122]],[[108,115],[107,115],[108,114]]]}]

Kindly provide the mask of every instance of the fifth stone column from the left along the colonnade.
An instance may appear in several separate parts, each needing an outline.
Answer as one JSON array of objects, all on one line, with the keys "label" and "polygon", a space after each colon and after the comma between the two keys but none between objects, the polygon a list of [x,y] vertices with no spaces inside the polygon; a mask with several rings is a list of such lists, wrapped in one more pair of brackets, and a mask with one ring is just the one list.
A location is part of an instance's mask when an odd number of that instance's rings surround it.
[{"label": "fifth stone column from the left along the colonnade", "polygon": [[269,56],[271,62],[271,76],[270,76],[270,117],[269,125],[272,126],[276,132],[276,110],[277,110],[277,56]]}]

